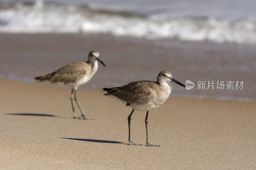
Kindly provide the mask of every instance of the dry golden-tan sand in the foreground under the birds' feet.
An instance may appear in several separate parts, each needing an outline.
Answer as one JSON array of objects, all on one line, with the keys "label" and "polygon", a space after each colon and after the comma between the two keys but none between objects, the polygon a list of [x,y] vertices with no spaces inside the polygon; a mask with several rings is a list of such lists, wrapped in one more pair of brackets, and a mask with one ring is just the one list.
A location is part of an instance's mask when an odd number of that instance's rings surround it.
[{"label": "dry golden-tan sand in the foreground under the birds' feet", "polygon": [[[0,169],[256,169],[255,102],[169,97],[149,112],[149,141],[161,146],[130,146],[132,109],[104,92],[78,90],[95,117],[85,121],[71,118],[70,89],[0,85]],[[132,116],[132,140],[140,144],[145,115]]]}]

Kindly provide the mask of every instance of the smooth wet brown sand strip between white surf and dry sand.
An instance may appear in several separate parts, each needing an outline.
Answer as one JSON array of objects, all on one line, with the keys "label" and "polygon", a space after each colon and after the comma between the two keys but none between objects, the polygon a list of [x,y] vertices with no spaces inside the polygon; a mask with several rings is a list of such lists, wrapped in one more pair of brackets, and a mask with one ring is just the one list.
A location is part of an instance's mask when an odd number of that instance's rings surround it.
[{"label": "smooth wet brown sand strip between white surf and dry sand", "polygon": [[81,88],[101,90],[137,80],[156,80],[162,70],[192,80],[244,81],[243,90],[190,90],[173,85],[175,96],[256,101],[256,48],[250,45],[145,40],[103,34],[0,34],[0,78],[33,83],[33,77],[100,52],[94,78]]}]

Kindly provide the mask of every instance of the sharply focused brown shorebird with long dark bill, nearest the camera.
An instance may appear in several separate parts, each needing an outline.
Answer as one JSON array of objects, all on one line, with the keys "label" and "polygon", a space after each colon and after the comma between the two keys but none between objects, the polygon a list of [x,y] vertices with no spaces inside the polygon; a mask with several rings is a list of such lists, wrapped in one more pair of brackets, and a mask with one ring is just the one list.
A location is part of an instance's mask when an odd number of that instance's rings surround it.
[{"label": "sharply focused brown shorebird with long dark bill, nearest the camera", "polygon": [[157,76],[157,81],[135,81],[127,85],[120,87],[103,88],[103,91],[107,91],[106,96],[114,97],[122,102],[126,103],[126,106],[132,107],[132,112],[128,116],[128,129],[129,129],[129,144],[139,145],[131,140],[131,119],[134,110],[147,111],[145,124],[146,124],[146,136],[147,146],[160,146],[150,144],[148,142],[148,112],[161,106],[165,100],[168,99],[172,92],[170,82],[177,83],[185,87],[182,83],[175,80],[169,71],[161,71]]}]

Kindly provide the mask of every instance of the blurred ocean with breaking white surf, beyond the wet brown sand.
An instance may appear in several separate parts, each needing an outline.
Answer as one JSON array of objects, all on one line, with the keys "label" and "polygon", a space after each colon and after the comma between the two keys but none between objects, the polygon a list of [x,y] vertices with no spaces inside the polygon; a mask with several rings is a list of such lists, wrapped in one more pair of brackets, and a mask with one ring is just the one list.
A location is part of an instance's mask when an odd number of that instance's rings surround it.
[{"label": "blurred ocean with breaking white surf, beyond the wet brown sand", "polygon": [[0,0],[0,32],[256,44],[255,9],[255,0]]}]

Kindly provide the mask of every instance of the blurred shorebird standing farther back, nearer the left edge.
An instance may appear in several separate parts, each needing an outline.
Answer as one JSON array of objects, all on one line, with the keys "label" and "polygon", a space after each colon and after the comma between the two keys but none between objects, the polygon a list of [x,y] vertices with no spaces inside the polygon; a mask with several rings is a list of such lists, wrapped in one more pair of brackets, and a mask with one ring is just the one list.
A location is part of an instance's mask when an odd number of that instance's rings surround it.
[{"label": "blurred shorebird standing farther back, nearer the left edge", "polygon": [[97,72],[98,61],[106,67],[106,65],[100,60],[99,54],[100,53],[98,51],[91,51],[88,55],[88,61],[70,63],[50,74],[35,77],[37,82],[48,82],[51,84],[67,85],[72,87],[70,100],[73,110],[73,117],[75,119],[77,117],[74,109],[74,99],[82,113],[83,119],[92,120],[91,118],[85,116],[84,111],[76,98],[76,90],[78,86],[87,83],[92,78],[92,76]]}]

